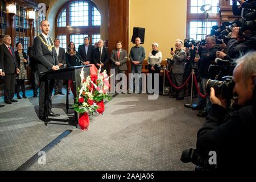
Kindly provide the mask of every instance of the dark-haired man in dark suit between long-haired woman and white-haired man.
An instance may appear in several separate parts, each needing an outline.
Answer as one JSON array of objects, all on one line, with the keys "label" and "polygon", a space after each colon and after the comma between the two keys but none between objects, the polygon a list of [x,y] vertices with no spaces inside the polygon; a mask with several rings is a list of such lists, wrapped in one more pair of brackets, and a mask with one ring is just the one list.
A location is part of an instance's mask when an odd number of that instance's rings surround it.
[{"label": "dark-haired man in dark suit between long-haired woman and white-haired man", "polygon": [[84,38],[84,44],[79,46],[78,53],[82,57],[84,64],[93,64],[93,49],[94,46],[90,45],[90,38],[86,36]]}]

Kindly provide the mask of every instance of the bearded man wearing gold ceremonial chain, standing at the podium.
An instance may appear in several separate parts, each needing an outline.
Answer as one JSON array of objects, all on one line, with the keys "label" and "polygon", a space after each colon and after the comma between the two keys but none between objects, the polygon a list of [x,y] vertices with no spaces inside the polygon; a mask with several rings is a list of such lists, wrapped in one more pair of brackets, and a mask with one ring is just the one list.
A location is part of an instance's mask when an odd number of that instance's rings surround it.
[{"label": "bearded man wearing gold ceremonial chain, standing at the podium", "polygon": [[[53,46],[53,40],[49,37],[49,22],[47,20],[42,20],[40,23],[40,30],[42,31],[39,36],[34,39],[34,50],[35,57],[38,62],[38,75],[39,75],[39,119],[44,121],[44,100],[46,93],[46,81],[42,80],[43,75],[47,72],[59,69],[59,61],[57,59],[57,53],[55,47]],[[59,116],[60,114],[55,114],[52,112],[52,90],[54,86],[54,80],[50,80],[49,84],[49,116]],[[47,113],[46,113],[47,114]]]}]

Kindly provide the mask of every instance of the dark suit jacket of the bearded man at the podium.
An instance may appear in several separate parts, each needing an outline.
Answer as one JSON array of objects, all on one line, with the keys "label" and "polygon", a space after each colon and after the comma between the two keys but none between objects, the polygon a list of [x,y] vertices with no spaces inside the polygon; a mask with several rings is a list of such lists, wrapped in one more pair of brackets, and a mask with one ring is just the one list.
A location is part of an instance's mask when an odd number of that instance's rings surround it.
[{"label": "dark suit jacket of the bearded man at the podium", "polygon": [[[39,36],[41,36],[44,42],[47,43],[47,40],[44,39],[42,34]],[[43,44],[39,36],[34,39],[34,51],[36,60],[38,62],[38,75],[44,75],[46,72],[52,69],[53,65],[58,65],[59,61],[57,59],[55,47],[52,48],[52,52],[49,51],[48,47]],[[52,40],[51,45],[53,46]]]}]

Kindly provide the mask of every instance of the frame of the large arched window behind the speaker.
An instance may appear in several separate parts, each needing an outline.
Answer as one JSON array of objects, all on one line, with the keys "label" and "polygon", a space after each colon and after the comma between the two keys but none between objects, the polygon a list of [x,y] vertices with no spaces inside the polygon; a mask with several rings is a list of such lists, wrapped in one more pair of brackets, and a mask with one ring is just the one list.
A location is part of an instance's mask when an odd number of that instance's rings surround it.
[{"label": "frame of the large arched window behind the speaker", "polygon": [[[76,0],[81,1],[81,0]],[[83,0],[88,3],[88,9],[89,9],[89,24],[88,26],[81,26],[81,27],[71,27],[70,26],[70,11],[69,11],[69,5],[75,1],[68,1],[63,6],[60,7],[60,9],[57,11],[56,17],[55,17],[55,37],[57,38],[58,35],[66,35],[67,36],[67,45],[70,42],[70,36],[71,34],[88,34],[90,38],[90,44],[92,44],[92,35],[93,34],[100,34],[100,27],[101,26],[93,26],[92,25],[92,11],[93,7],[96,7],[98,10],[98,7],[90,0]],[[59,18],[59,15],[63,9],[66,9],[66,27],[58,27],[57,26],[57,19]],[[100,12],[100,11],[99,11]]]}]

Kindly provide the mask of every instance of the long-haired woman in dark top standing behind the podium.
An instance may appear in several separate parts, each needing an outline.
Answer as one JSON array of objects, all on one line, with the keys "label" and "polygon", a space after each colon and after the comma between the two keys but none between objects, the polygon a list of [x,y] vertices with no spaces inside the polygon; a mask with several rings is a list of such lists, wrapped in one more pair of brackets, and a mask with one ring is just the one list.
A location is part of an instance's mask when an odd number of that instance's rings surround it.
[{"label": "long-haired woman in dark top standing behind the podium", "polygon": [[[81,65],[79,57],[80,55],[76,51],[75,44],[73,42],[70,42],[68,44],[68,50],[66,52],[66,63],[68,67],[75,67],[75,66]],[[72,93],[74,93],[72,80],[68,81],[68,93],[69,93],[69,88],[71,88]]]}]

